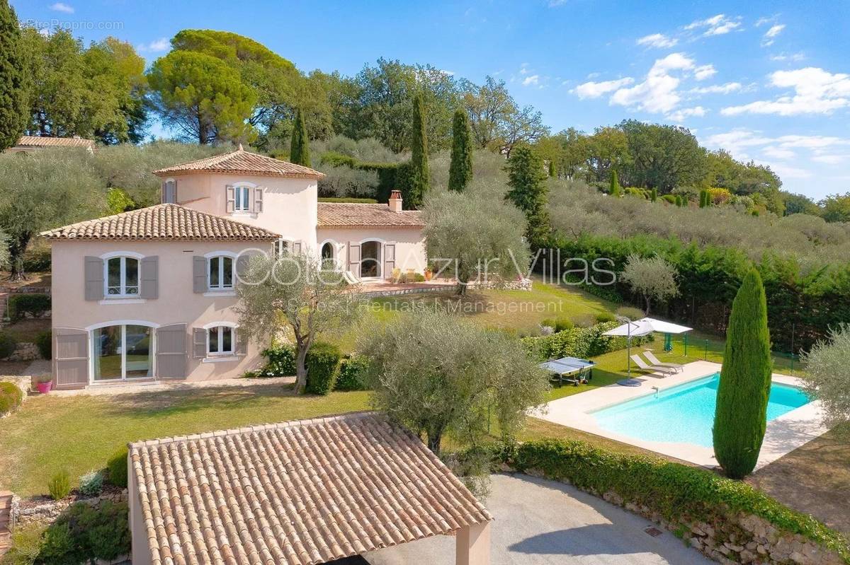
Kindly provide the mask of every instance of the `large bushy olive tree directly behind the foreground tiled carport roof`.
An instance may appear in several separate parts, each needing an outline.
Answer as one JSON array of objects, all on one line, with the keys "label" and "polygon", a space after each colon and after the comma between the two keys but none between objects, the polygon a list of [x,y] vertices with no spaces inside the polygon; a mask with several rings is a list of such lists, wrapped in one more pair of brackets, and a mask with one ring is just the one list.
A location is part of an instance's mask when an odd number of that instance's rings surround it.
[{"label": "large bushy olive tree directly behind the foreground tiled carport roof", "polygon": [[371,405],[425,434],[436,455],[446,433],[479,445],[490,413],[502,436],[511,437],[549,386],[519,340],[441,310],[370,327],[357,349],[371,360],[365,375]]}]

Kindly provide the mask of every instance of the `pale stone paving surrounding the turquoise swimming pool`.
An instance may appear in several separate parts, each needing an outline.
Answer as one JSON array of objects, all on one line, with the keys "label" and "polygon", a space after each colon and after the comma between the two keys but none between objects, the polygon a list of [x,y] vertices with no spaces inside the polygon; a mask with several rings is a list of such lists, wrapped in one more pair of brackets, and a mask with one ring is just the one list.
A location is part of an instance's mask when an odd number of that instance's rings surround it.
[{"label": "pale stone paving surrounding the turquoise swimming pool", "polygon": [[[604,438],[614,439],[624,444],[635,445],[645,450],[655,451],[655,453],[675,457],[696,465],[717,467],[717,459],[711,447],[688,443],[647,441],[622,434],[615,434],[605,428],[600,428],[592,416],[592,412],[621,404],[627,400],[634,400],[649,394],[655,394],[655,390],[651,387],[666,390],[680,384],[707,377],[715,372],[719,372],[720,367],[719,363],[713,363],[711,361],[694,361],[683,366],[682,372],[677,372],[669,377],[660,377],[655,374],[636,375],[635,378],[642,381],[642,385],[639,387],[624,387],[619,384],[610,384],[580,394],[573,394],[558,400],[552,400],[547,403],[545,411],[536,411],[532,415],[548,422],[579,429],[583,432]],[[800,379],[780,373],[774,373],[772,380],[774,383],[789,384],[796,387],[802,384]],[[828,428],[821,422],[821,408],[818,400],[786,412],[782,416],[768,422],[756,468],[764,467],[776,461],[779,457],[796,450],[801,445],[807,444],[819,435],[825,434]]]}]

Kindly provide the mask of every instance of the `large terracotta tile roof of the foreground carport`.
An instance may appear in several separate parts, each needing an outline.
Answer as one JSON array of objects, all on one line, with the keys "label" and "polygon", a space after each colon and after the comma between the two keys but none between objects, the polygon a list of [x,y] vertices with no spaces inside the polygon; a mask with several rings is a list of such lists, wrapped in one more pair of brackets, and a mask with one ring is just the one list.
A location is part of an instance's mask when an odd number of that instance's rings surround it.
[{"label": "large terracotta tile roof of the foreground carport", "polygon": [[492,519],[374,413],[130,445],[153,565],[312,565]]}]

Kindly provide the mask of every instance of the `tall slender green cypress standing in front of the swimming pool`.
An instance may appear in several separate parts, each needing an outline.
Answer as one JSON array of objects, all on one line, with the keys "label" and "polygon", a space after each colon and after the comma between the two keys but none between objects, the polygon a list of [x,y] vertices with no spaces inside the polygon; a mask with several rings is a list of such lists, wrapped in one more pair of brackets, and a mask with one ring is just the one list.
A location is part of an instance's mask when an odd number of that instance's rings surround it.
[{"label": "tall slender green cypress standing in front of the swimming pool", "polygon": [[728,477],[752,472],[770,394],[770,333],[762,277],[751,269],[732,303],[714,414],[714,453]]}]

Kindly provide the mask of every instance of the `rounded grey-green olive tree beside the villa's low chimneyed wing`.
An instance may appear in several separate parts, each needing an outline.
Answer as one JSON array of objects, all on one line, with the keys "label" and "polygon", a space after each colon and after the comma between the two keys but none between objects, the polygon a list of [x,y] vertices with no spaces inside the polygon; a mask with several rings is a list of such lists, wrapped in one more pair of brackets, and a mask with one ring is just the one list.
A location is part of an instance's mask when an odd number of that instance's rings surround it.
[{"label": "rounded grey-green olive tree beside the villa's low chimneyed wing", "polygon": [[524,275],[529,265],[525,218],[510,204],[442,193],[428,199],[424,220],[428,257],[455,273],[457,294],[466,294],[470,282]]}]

